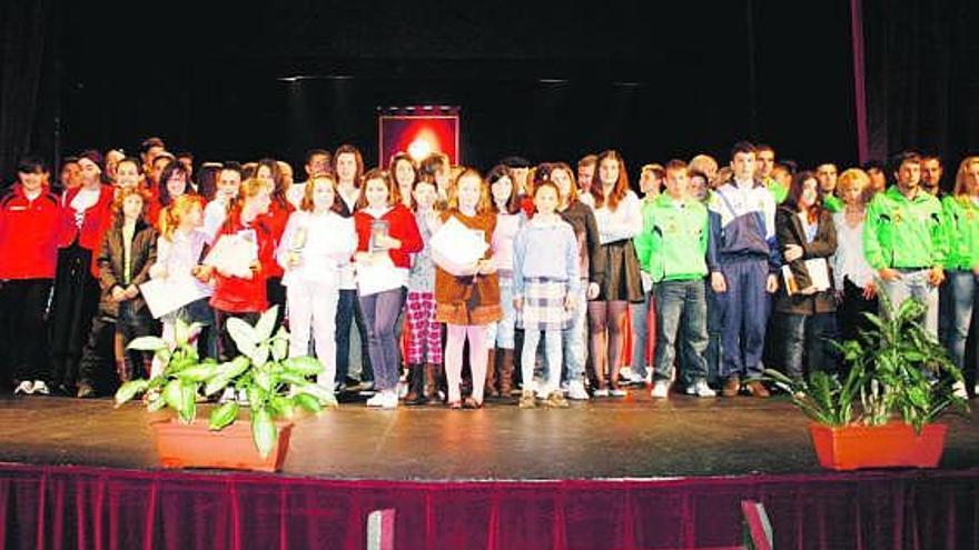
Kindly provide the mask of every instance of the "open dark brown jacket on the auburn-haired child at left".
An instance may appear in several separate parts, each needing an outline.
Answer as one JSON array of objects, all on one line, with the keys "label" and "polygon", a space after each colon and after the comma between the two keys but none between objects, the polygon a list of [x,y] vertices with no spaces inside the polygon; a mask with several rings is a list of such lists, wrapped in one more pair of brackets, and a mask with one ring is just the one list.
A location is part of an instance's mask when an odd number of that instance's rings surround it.
[{"label": "open dark brown jacket on the auburn-haired child at left", "polygon": [[[129,284],[142,284],[149,280],[149,268],[157,261],[157,232],[145,222],[136,224],[136,231],[132,233],[132,260],[130,262],[131,279],[127,284],[123,281],[126,270],[126,248],[122,246],[122,226],[112,224],[112,228],[106,232],[102,239],[102,246],[99,252],[99,287],[101,288],[101,298],[99,300],[99,313],[103,316],[116,317],[119,313],[119,304],[112,301],[112,289],[116,287],[123,290]],[[142,294],[131,300],[135,311],[141,311],[146,308],[146,301]]]}]

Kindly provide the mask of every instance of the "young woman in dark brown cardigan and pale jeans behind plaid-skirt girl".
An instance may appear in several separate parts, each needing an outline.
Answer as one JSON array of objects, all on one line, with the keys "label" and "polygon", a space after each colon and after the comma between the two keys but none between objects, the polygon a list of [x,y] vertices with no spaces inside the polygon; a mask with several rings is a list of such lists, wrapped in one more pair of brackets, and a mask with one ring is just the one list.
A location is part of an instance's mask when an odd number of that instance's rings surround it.
[{"label": "young woman in dark brown cardigan and pale jeans behind plaid-skirt girl", "polygon": [[605,277],[605,257],[601,252],[601,238],[599,226],[595,222],[595,213],[592,207],[585,204],[578,198],[578,187],[574,181],[574,172],[564,162],[554,164],[551,170],[551,181],[557,186],[561,201],[557,211],[564,221],[571,223],[577,240],[577,264],[581,283],[576,294],[577,303],[573,309],[571,326],[562,334],[564,346],[564,371],[563,380],[567,381],[567,398],[574,400],[587,400],[585,391],[584,373],[587,358],[587,311],[589,300],[599,296],[599,289]]}]

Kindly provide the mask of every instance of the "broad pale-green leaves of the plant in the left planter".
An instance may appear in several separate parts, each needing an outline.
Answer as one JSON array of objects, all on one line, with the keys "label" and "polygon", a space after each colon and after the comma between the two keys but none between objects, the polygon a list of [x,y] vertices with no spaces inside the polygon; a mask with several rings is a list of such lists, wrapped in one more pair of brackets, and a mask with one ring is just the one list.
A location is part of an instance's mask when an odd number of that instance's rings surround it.
[{"label": "broad pale-green leaves of the plant in the left planter", "polygon": [[[288,332],[280,327],[273,334],[277,308],[263,313],[254,327],[237,318],[228,320],[228,332],[240,354],[227,362],[212,358],[201,360],[190,341],[197,326],[179,320],[172,349],[158,337],[132,340],[128,348],[154,352],[165,367],[157,377],[122,384],[116,392],[116,407],[146,394],[149,411],[169,408],[177,413],[178,421],[190,423],[197,417],[198,397],[212,397],[234,388],[236,393],[248,398],[251,437],[258,452],[267,457],[278,438],[276,420],[291,419],[297,410],[319,413],[324,407],[337,404],[330,389],[308,380],[323,371],[319,360],[288,358]],[[221,430],[233,424],[240,407],[233,400],[214,408],[209,428]]]}]

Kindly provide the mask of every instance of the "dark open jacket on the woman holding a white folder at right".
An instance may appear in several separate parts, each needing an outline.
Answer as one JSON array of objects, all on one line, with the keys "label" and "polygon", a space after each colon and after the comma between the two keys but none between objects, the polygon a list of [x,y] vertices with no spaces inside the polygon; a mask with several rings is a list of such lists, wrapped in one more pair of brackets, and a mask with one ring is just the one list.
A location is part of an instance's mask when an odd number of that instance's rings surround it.
[{"label": "dark open jacket on the woman holding a white folder at right", "polygon": [[[798,244],[802,247],[802,258],[788,262],[789,269],[800,289],[811,284],[809,271],[805,269],[805,260],[823,258],[827,260],[830,283],[833,281],[832,263],[830,257],[837,251],[837,228],[833,226],[833,217],[828,210],[819,214],[818,229],[812,242],[805,242],[805,230],[802,220],[795,210],[789,207],[779,207],[775,211],[775,237],[779,240],[779,252],[784,259],[785,247]],[[783,262],[785,263],[785,262]],[[785,291],[785,281],[779,277],[779,292],[775,294],[775,311],[782,313],[813,314],[831,313],[837,310],[837,301],[833,290],[817,292],[810,296],[789,296]]]}]

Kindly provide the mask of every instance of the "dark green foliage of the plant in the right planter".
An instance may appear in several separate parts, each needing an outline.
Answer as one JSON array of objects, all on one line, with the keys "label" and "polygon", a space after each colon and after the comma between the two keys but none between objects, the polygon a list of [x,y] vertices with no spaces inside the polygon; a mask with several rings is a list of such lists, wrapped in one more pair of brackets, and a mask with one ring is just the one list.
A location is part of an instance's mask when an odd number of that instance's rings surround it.
[{"label": "dark green foliage of the plant in the right planter", "polygon": [[822,371],[808,382],[774,370],[767,376],[803,413],[828,426],[881,426],[900,418],[920,432],[950,409],[968,411],[953,388],[961,371],[921,324],[927,307],[908,299],[894,308],[886,292],[878,296],[884,314],[864,313],[872,328],[856,340],[834,342],[850,368],[843,382]]}]

